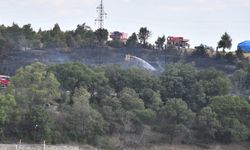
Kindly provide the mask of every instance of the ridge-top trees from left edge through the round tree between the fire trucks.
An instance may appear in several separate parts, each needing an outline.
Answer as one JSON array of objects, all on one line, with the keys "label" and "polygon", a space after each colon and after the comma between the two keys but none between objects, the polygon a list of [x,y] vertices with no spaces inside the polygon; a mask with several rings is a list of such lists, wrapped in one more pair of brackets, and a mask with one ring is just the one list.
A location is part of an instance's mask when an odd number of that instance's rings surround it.
[{"label": "ridge-top trees from left edge through the round tree between the fire trucks", "polygon": [[142,27],[138,34],[133,33],[128,41],[108,41],[107,29],[93,31],[85,23],[77,25],[75,30],[62,31],[59,24],[55,24],[51,30],[34,31],[31,24],[20,27],[13,23],[12,26],[0,26],[0,50],[29,50],[48,48],[84,48],[108,45],[112,47],[148,47],[147,39],[151,32]]}]

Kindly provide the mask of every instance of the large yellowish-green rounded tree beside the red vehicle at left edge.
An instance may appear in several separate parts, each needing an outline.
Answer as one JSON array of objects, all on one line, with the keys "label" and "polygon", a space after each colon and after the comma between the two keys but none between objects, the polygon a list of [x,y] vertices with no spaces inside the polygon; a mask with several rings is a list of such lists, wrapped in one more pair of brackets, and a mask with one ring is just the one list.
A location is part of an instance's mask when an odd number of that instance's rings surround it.
[{"label": "large yellowish-green rounded tree beside the red vehicle at left edge", "polygon": [[27,111],[33,106],[43,106],[58,98],[59,86],[55,75],[48,71],[47,66],[37,62],[18,69],[11,78],[9,88],[22,111]]}]

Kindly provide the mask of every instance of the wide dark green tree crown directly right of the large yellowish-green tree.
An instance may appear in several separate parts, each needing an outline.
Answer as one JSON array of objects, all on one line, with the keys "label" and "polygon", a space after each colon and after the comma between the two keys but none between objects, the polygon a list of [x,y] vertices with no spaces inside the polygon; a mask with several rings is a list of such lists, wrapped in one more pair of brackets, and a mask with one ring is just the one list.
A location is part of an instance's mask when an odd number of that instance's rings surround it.
[{"label": "wide dark green tree crown directly right of the large yellowish-green tree", "polygon": [[51,66],[50,70],[54,72],[58,81],[65,90],[74,94],[75,89],[85,87],[94,96],[103,88],[107,89],[108,79],[104,72],[95,72],[84,64],[65,63]]}]

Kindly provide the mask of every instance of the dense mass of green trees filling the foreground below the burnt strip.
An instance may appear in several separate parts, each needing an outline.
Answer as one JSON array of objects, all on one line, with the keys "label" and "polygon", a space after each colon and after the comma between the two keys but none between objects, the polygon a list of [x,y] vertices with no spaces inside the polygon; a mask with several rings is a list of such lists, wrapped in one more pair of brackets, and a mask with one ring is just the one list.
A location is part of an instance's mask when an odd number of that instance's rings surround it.
[{"label": "dense mass of green trees filling the foreground below the burnt strip", "polygon": [[175,63],[158,77],[116,65],[34,63],[0,91],[0,140],[117,149],[110,137],[140,146],[151,130],[167,137],[164,143],[249,141],[249,79],[249,65],[227,77]]}]

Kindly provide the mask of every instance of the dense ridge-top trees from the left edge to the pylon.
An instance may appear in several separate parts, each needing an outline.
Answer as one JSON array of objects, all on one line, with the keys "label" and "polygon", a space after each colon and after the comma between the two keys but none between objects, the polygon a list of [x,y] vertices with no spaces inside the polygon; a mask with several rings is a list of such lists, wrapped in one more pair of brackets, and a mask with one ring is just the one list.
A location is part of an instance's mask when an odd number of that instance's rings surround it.
[{"label": "dense ridge-top trees from the left edge to the pylon", "polygon": [[[40,29],[38,32],[34,31],[30,24],[23,27],[15,23],[8,27],[2,25],[0,26],[0,49],[26,50],[93,46],[98,43],[98,31],[91,30],[85,24],[66,32],[63,32],[58,24],[55,24],[51,30]],[[106,31],[105,34],[107,38],[108,32]]]}]

